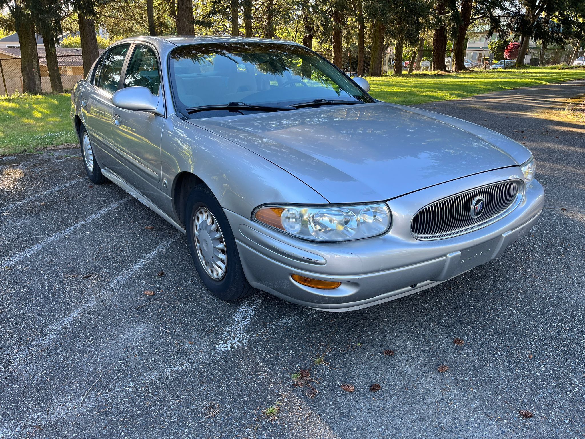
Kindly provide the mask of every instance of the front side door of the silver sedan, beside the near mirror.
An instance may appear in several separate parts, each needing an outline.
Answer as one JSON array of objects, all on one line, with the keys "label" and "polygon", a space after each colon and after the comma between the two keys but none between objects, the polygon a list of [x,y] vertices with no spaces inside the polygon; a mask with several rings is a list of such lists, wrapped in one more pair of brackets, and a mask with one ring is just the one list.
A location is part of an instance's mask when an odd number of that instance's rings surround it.
[{"label": "front side door of the silver sedan, beside the near mirror", "polygon": [[[159,96],[164,114],[160,64],[155,50],[137,43],[126,68],[121,88],[146,87]],[[112,138],[120,166],[116,173],[154,204],[163,201],[160,138],[166,118],[146,111],[113,107]]]}]

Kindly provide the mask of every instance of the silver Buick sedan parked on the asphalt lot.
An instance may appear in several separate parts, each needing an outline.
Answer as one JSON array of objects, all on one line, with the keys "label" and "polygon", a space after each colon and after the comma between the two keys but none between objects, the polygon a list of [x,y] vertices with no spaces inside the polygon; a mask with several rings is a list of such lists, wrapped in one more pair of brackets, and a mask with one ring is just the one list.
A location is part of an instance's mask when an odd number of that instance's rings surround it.
[{"label": "silver Buick sedan parked on the asphalt lot", "polygon": [[135,37],[71,119],[90,180],[187,234],[215,296],[353,310],[497,258],[544,200],[524,146],[368,91],[291,42]]}]

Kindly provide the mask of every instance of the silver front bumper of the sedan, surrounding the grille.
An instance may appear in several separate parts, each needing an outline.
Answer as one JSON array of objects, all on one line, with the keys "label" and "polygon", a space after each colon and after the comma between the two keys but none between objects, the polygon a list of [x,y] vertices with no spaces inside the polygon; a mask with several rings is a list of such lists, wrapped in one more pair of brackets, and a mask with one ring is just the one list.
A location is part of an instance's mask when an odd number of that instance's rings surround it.
[{"label": "silver front bumper of the sedan, surrounding the grille", "polygon": [[[542,212],[544,191],[536,180],[526,187],[524,199],[510,214],[464,235],[419,241],[410,232],[410,219],[419,207],[439,198],[519,176],[519,168],[497,170],[390,200],[390,231],[357,241],[309,242],[231,211],[226,215],[253,287],[311,308],[349,311],[435,286],[501,255],[532,228]],[[292,274],[342,285],[333,290],[315,289],[295,282]]]}]

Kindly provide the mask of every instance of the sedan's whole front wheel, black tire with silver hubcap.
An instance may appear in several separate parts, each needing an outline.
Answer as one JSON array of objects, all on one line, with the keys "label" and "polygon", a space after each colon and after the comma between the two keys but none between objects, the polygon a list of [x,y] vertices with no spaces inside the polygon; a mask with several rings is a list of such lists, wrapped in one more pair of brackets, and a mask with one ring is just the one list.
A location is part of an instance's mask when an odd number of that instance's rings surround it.
[{"label": "sedan's whole front wheel, black tire with silver hubcap", "polygon": [[187,199],[185,219],[191,257],[208,290],[226,301],[252,293],[228,218],[204,184],[195,187]]}]

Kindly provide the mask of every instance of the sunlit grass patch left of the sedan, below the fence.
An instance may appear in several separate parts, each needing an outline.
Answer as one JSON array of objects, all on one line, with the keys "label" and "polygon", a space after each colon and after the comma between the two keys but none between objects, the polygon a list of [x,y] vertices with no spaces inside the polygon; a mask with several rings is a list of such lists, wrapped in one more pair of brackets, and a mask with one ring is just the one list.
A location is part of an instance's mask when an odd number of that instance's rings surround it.
[{"label": "sunlit grass patch left of the sedan, below the fence", "polygon": [[78,143],[69,94],[0,97],[0,156]]}]

